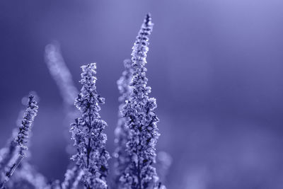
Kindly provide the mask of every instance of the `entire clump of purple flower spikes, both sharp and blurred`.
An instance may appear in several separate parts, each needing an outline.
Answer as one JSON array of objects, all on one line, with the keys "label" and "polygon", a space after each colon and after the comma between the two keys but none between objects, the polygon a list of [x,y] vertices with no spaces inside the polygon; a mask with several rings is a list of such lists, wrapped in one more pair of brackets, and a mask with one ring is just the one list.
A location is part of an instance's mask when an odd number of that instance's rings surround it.
[{"label": "entire clump of purple flower spikes, both sharp and blurred", "polygon": [[[165,188],[154,168],[155,147],[160,135],[156,126],[158,118],[154,112],[156,99],[149,98],[151,88],[146,86],[146,53],[149,50],[152,27],[151,16],[148,14],[134,42],[132,60],[125,60],[125,71],[117,81],[121,95],[114,153],[114,188],[117,189]],[[64,64],[57,43],[47,45],[45,60],[61,91],[67,112],[76,113],[72,101],[79,92]],[[4,185],[23,189],[76,189],[82,185],[87,189],[108,188],[106,178],[110,155],[105,149],[107,136],[104,133],[107,123],[99,115],[100,104],[105,100],[96,91],[96,63],[81,68],[82,88],[74,103],[81,115],[76,116],[70,130],[76,154],[71,158],[74,160],[73,165],[65,173],[64,181],[47,184],[44,176],[37,173],[28,161],[22,161],[27,156],[28,135],[38,108],[34,97],[29,96],[20,131],[18,134],[13,132],[13,139],[8,142],[8,147],[0,150],[0,188],[4,188]],[[161,164],[166,163],[161,169],[164,172],[168,171],[171,164],[167,160],[167,156],[161,156]],[[18,169],[11,178],[16,168]],[[164,177],[165,175],[161,175],[161,178]]]}]

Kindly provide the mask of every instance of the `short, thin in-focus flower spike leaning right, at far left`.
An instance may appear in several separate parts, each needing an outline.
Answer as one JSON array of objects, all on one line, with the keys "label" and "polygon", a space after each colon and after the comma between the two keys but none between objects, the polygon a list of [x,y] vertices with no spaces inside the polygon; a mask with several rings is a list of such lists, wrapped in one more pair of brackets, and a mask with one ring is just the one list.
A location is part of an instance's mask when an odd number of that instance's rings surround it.
[{"label": "short, thin in-focus flower spike leaning right, at far left", "polygon": [[0,188],[4,188],[4,184],[10,179],[13,172],[21,164],[21,161],[26,156],[25,152],[28,150],[28,133],[30,132],[31,125],[35,116],[37,115],[37,103],[33,100],[33,96],[29,96],[28,108],[25,110],[23,120],[16,137],[17,146],[19,147],[18,156],[13,158],[5,168],[5,174],[3,181],[0,181]]}]

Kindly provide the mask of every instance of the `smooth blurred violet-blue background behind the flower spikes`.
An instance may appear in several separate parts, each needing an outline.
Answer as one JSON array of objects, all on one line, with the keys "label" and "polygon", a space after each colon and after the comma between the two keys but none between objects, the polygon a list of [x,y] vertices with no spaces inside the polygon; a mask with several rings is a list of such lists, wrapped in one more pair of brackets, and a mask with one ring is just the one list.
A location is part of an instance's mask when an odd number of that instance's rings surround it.
[{"label": "smooth blurred violet-blue background behind the flower spikes", "polygon": [[44,60],[45,45],[57,40],[77,88],[80,66],[97,62],[112,153],[116,81],[150,12],[147,77],[161,120],[157,149],[173,158],[167,188],[283,188],[282,7],[281,0],[2,0],[0,145],[23,96],[36,91],[30,163],[50,180],[64,178],[69,123]]}]

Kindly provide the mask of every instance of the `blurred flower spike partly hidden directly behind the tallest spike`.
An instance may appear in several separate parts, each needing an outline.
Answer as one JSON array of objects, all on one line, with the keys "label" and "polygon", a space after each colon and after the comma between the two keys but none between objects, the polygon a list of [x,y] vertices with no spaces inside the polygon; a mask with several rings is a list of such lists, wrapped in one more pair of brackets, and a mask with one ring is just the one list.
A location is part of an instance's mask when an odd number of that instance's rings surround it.
[{"label": "blurred flower spike partly hidden directly behind the tallest spike", "polygon": [[129,100],[129,96],[132,93],[132,87],[129,86],[132,80],[132,61],[129,59],[124,60],[125,71],[122,72],[122,76],[117,81],[117,86],[120,91],[120,106],[118,114],[118,123],[115,129],[115,144],[116,149],[114,152],[115,161],[115,183],[119,185],[119,178],[124,173],[125,168],[130,163],[129,156],[126,152],[126,144],[129,141],[129,128],[126,127],[126,118],[122,115],[122,108],[125,105],[125,101]]}]

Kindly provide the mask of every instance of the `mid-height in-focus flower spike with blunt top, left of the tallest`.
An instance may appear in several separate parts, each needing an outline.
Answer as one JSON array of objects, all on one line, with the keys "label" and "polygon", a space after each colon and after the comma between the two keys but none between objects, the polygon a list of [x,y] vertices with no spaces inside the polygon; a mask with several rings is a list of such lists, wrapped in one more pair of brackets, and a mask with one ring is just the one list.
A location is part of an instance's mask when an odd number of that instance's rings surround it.
[{"label": "mid-height in-focus flower spike with blunt top, left of the tallest", "polygon": [[108,188],[108,159],[110,155],[105,150],[107,136],[103,133],[107,123],[100,118],[99,103],[104,103],[96,91],[96,63],[81,67],[81,93],[76,98],[75,105],[81,111],[81,118],[71,125],[72,139],[77,153],[72,157],[76,165],[83,171],[82,181],[86,188]]}]

